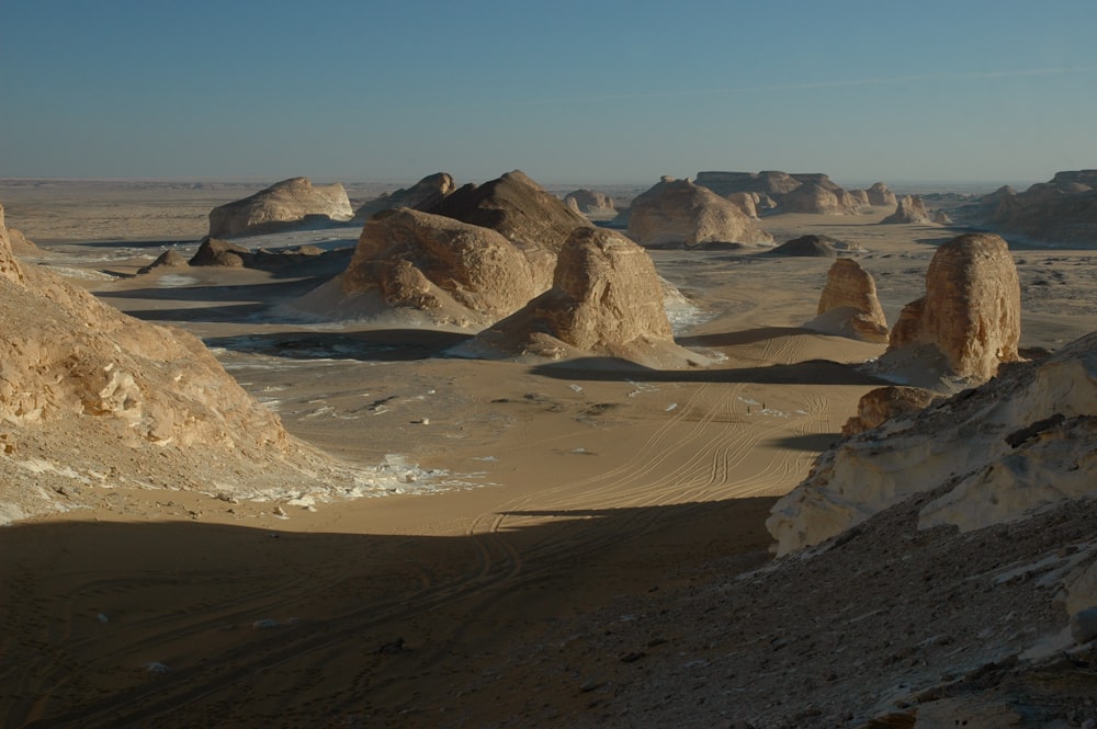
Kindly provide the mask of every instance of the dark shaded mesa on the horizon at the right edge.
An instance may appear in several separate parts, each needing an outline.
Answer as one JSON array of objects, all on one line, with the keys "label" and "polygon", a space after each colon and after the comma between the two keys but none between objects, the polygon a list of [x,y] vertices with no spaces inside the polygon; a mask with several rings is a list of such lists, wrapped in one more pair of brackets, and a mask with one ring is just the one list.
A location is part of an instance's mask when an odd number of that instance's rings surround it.
[{"label": "dark shaded mesa on the horizon at the right edge", "polygon": [[998,230],[1045,242],[1097,241],[1097,170],[1056,172],[1022,193],[1002,187],[981,202]]}]

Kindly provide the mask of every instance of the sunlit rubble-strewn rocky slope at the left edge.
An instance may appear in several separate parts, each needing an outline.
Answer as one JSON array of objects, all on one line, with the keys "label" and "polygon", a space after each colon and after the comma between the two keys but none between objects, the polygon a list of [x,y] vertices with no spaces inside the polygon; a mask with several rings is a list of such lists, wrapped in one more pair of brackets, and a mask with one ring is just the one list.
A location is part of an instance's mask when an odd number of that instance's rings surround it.
[{"label": "sunlit rubble-strewn rocky slope at the left edge", "polygon": [[0,420],[0,523],[78,506],[81,488],[301,492],[326,463],[193,335],[23,266],[2,226]]}]

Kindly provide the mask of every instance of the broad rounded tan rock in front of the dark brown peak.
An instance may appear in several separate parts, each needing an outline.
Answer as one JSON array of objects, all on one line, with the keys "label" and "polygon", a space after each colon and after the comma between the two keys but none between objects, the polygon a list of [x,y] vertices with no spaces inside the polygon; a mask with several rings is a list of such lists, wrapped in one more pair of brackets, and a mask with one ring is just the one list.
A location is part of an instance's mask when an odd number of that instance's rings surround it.
[{"label": "broad rounded tan rock in front of the dark brown peak", "polygon": [[545,291],[501,233],[409,208],[376,213],[346,272],[295,303],[325,317],[393,310],[434,324],[486,324]]}]

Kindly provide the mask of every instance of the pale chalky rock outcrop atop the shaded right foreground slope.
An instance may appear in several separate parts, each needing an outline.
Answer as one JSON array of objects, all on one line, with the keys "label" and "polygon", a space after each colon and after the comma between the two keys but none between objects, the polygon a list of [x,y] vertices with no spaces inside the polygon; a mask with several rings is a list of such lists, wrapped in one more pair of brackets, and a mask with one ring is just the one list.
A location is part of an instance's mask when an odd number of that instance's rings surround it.
[{"label": "pale chalky rock outcrop atop the shaded right foreground slope", "polygon": [[823,454],[766,525],[779,554],[815,545],[914,494],[919,526],[961,532],[1097,490],[1097,333],[1039,363],[886,420]]}]

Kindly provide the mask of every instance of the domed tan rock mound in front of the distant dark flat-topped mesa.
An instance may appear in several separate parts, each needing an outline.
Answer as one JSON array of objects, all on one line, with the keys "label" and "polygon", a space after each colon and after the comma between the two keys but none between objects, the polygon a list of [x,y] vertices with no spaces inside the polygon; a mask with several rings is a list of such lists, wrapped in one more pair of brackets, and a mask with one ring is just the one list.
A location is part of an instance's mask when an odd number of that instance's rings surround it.
[{"label": "domed tan rock mound in front of the distant dark flat-topped mesa", "polygon": [[632,201],[629,237],[641,246],[772,243],[734,203],[689,180],[663,180]]}]

